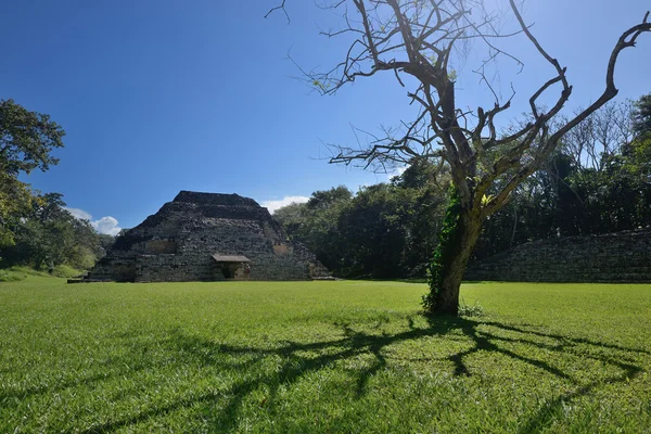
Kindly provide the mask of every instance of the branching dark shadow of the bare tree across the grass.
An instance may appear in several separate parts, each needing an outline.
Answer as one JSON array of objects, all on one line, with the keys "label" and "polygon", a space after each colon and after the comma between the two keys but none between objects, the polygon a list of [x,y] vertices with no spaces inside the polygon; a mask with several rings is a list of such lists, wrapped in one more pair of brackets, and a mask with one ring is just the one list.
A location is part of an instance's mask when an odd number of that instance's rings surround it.
[{"label": "branching dark shadow of the bare tree across the grass", "polygon": [[[265,387],[266,397],[259,403],[260,407],[267,407],[275,412],[275,401],[281,387],[295,385],[306,374],[332,367],[340,361],[358,356],[372,356],[373,361],[370,366],[356,372],[355,395],[357,398],[361,398],[367,392],[369,380],[391,363],[393,357],[385,352],[390,345],[424,337],[452,339],[446,336],[450,332],[460,332],[460,336],[463,336],[470,343],[470,348],[446,357],[454,366],[455,375],[473,375],[472,368],[467,365],[467,360],[477,352],[487,352],[493,356],[503,356],[526,363],[574,384],[573,391],[546,404],[521,425],[522,433],[535,432],[549,424],[556,412],[565,403],[587,395],[603,384],[629,381],[642,372],[643,368],[634,363],[633,358],[627,357],[627,355],[650,355],[643,349],[532,330],[533,327],[531,326],[513,326],[497,321],[464,318],[432,318],[429,320],[429,327],[426,328],[414,327],[413,320],[408,318],[407,330],[394,334],[367,333],[355,330],[349,324],[334,326],[341,329],[342,337],[308,343],[286,341],[272,347],[219,344],[203,336],[186,334],[179,329],[174,330],[166,340],[170,350],[191,355],[193,360],[201,366],[246,372],[246,375],[234,381],[224,391],[179,397],[165,406],[143,410],[130,418],[97,424],[84,432],[111,432],[156,416],[196,405],[204,405],[206,409],[214,409],[209,411],[214,429],[217,432],[232,431],[237,427],[245,399],[252,397],[261,387]],[[538,350],[546,352],[545,354],[548,357],[536,359],[525,354],[525,350],[512,349],[514,345],[535,347]],[[603,348],[614,350],[622,357],[615,359],[612,355],[601,355],[600,352]],[[580,384],[570,373],[553,366],[554,358],[567,354],[608,363],[617,368],[620,374],[595,380],[588,384]],[[258,363],[264,363],[265,360],[271,357],[280,360],[279,369],[271,372],[258,369],[260,368]],[[214,405],[217,401],[220,404],[219,407]]]}]

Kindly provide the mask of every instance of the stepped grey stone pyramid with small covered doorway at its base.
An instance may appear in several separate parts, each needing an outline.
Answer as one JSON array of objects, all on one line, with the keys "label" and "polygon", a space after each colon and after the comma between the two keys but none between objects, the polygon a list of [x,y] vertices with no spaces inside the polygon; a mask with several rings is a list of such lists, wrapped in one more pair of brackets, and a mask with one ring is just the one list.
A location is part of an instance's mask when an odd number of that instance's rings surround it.
[{"label": "stepped grey stone pyramid with small covered doorway at its base", "polygon": [[[248,272],[247,272],[248,271]],[[309,280],[330,275],[267,208],[238,194],[181,191],[116,238],[84,281]]]}]

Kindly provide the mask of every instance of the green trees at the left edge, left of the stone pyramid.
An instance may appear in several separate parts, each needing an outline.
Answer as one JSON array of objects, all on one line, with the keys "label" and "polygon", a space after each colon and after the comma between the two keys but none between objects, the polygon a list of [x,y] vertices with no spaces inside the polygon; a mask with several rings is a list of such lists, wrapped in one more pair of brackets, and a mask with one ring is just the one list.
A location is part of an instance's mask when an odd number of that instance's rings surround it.
[{"label": "green trees at the left edge, left of the stone pyramid", "polygon": [[0,100],[0,268],[84,270],[113,242],[67,212],[62,194],[41,193],[18,179],[58,164],[52,151],[63,148],[64,136],[49,115]]}]

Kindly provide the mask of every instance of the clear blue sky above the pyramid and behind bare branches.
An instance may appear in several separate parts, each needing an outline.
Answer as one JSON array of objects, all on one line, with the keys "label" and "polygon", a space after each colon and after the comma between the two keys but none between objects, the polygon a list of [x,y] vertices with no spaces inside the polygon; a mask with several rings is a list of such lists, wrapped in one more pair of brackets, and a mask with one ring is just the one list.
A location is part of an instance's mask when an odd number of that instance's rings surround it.
[{"label": "clear blue sky above the pyramid and behind bare branches", "polygon": [[[0,99],[48,113],[67,132],[56,152],[61,163],[24,180],[63,193],[71,208],[108,232],[138,225],[179,190],[235,192],[272,206],[268,201],[386,180],[328,165],[322,143],[353,142],[350,125],[375,130],[407,118],[406,90],[387,76],[334,97],[310,93],[292,78],[298,72],[288,52],[306,68],[327,67],[341,59],[345,40],[318,35],[317,25],[336,20],[312,1],[288,0],[289,25],[282,14],[265,20],[275,1],[3,4]],[[618,35],[647,9],[647,0],[525,2],[533,31],[569,68],[574,93],[567,110],[601,93]],[[518,92],[506,124],[552,72],[526,40],[505,43],[525,63],[519,75],[507,60],[498,64],[496,86],[508,94],[512,82]],[[477,55],[456,65],[459,101],[472,107],[492,103],[471,72]],[[623,53],[618,99],[651,92],[649,71],[651,35],[642,35]]]}]

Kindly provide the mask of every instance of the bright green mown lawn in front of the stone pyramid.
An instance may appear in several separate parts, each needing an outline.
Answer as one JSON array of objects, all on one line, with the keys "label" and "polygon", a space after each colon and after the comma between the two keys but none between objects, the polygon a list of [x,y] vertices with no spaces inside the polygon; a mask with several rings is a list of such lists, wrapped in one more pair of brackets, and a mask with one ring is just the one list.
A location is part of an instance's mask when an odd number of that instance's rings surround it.
[{"label": "bright green mown lawn in front of the stone pyramid", "polygon": [[651,431],[651,285],[0,283],[0,432]]}]

